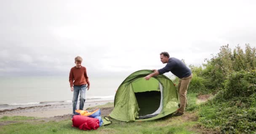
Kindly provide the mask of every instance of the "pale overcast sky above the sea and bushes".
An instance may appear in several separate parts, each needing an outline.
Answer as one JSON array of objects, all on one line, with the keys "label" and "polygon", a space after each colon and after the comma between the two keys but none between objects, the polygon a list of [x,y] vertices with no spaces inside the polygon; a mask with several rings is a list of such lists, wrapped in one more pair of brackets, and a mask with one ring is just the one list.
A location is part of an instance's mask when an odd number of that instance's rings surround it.
[{"label": "pale overcast sky above the sea and bushes", "polygon": [[256,46],[255,0],[0,0],[0,76],[91,76],[200,65],[222,45]]}]

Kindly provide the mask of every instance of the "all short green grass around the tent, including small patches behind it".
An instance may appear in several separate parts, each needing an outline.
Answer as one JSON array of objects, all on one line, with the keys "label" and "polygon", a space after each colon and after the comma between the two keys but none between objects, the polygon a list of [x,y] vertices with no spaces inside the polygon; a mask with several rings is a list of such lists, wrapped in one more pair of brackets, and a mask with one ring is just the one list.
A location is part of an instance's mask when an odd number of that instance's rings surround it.
[{"label": "all short green grass around the tent, including small patches behind it", "polygon": [[[195,106],[196,102],[195,93],[188,95],[189,110],[191,106]],[[107,108],[113,107],[113,103],[107,103],[102,106],[94,108]],[[92,109],[94,109],[92,108]],[[19,122],[0,126],[1,134],[197,134],[195,126],[197,121],[188,120],[186,116],[191,115],[193,112],[187,112],[183,116],[173,117],[165,116],[162,119],[154,121],[143,122],[123,122],[112,119],[112,124],[101,126],[97,130],[82,131],[78,128],[72,127],[70,119],[64,121],[49,121],[42,122],[40,120],[27,121],[35,119],[34,117],[25,116],[4,116],[0,119],[3,121],[17,121]],[[185,119],[184,119],[185,118]]]}]

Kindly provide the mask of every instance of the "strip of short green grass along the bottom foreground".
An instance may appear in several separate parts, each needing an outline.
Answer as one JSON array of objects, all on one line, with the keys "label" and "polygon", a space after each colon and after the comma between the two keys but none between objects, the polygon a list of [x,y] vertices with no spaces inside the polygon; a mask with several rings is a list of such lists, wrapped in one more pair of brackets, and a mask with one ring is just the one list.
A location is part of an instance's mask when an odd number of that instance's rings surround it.
[{"label": "strip of short green grass along the bottom foreground", "polygon": [[179,117],[146,122],[126,123],[113,121],[108,126],[101,126],[97,130],[81,131],[72,127],[71,120],[47,123],[19,122],[2,126],[0,133],[3,134],[193,134],[187,129],[195,125],[195,121],[181,122]]}]

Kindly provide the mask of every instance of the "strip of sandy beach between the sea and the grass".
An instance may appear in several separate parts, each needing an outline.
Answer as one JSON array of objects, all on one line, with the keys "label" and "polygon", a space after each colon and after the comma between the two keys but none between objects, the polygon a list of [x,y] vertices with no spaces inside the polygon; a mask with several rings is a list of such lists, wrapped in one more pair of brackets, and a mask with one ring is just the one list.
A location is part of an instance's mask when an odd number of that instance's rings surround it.
[{"label": "strip of sandy beach between the sea and the grass", "polygon": [[[104,105],[109,102],[114,102],[114,100],[85,102],[84,110],[87,108]],[[77,107],[78,106],[79,101],[77,102]],[[31,116],[39,118],[48,118],[54,116],[62,116],[66,114],[72,114],[72,103],[56,103],[40,106],[32,105],[0,110],[0,118],[3,116]]]}]

